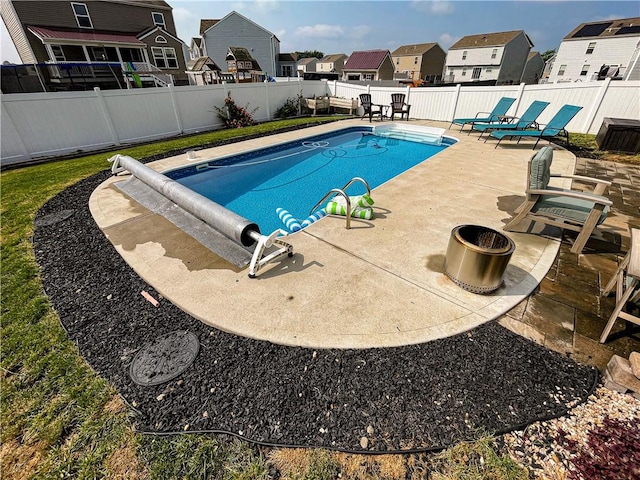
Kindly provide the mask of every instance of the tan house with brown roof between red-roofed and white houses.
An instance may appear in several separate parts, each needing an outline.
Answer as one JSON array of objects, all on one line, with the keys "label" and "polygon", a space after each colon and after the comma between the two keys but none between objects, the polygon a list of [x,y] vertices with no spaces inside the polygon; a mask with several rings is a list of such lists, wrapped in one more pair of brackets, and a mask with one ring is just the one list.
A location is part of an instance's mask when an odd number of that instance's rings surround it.
[{"label": "tan house with brown roof between red-roofed and white houses", "polygon": [[442,79],[446,56],[437,43],[403,45],[391,53],[396,75],[402,73],[403,78],[427,83],[438,83]]}]

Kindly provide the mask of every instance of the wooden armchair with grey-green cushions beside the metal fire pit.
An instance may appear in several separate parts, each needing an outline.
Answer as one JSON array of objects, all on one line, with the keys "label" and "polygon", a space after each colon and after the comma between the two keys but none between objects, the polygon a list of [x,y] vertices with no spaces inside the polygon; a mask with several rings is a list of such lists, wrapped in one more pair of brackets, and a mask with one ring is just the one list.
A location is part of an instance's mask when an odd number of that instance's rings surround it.
[{"label": "wooden armchair with grey-green cushions beside the metal fire pit", "polygon": [[[579,232],[572,253],[580,253],[597,225],[604,222],[612,202],[602,194],[611,182],[578,175],[551,174],[553,148],[545,146],[533,155],[527,166],[525,201],[513,219],[504,226],[512,231],[525,218]],[[595,184],[592,193],[549,186],[551,178],[570,178]]]}]

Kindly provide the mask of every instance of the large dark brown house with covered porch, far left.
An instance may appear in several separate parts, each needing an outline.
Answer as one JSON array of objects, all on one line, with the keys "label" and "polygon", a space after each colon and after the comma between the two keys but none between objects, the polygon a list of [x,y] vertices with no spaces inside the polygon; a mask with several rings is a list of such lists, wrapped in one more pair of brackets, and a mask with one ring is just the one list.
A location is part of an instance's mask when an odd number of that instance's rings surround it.
[{"label": "large dark brown house with covered porch, far left", "polygon": [[47,89],[189,83],[164,1],[3,0],[0,14],[22,62],[46,64]]}]

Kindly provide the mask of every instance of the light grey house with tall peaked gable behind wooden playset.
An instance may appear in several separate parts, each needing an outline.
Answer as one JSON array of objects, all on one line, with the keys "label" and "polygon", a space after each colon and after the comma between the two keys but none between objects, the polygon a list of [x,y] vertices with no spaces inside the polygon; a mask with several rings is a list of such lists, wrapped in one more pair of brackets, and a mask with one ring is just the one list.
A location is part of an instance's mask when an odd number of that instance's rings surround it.
[{"label": "light grey house with tall peaked gable behind wooden playset", "polygon": [[233,11],[220,20],[201,20],[200,35],[205,54],[217,65],[227,64],[229,47],[244,48],[268,75],[279,73],[278,37],[238,12]]}]

